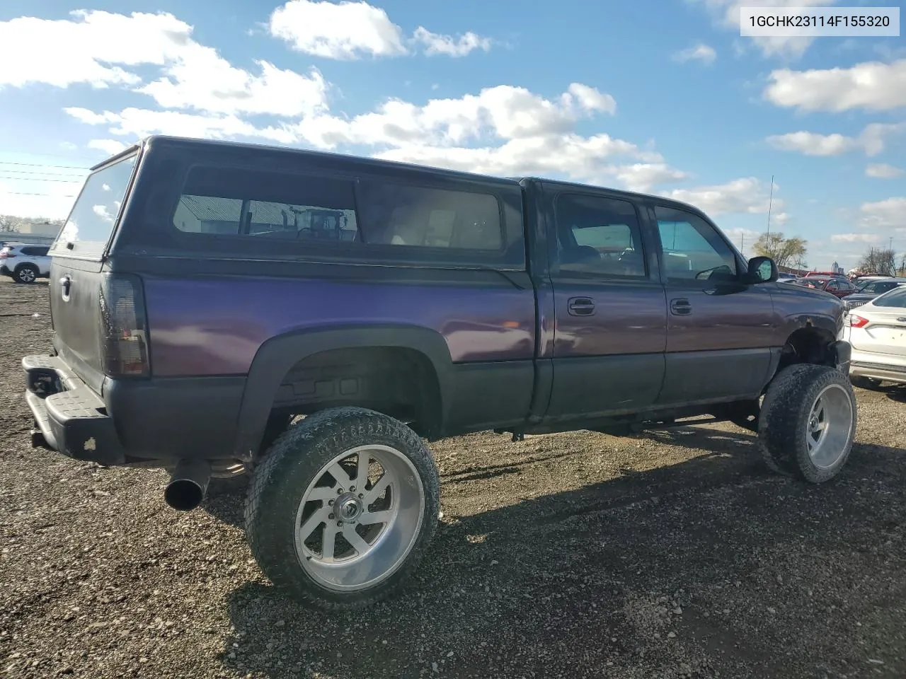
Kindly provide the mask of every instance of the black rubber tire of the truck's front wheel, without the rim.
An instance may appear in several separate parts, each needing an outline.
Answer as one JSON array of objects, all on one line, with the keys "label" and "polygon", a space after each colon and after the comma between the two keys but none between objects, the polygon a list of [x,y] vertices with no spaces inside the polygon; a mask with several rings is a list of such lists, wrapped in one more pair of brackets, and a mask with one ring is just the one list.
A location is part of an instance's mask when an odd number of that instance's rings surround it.
[{"label": "black rubber tire of the truck's front wheel, without the rim", "polygon": [[[843,453],[833,466],[823,469],[808,453],[806,433],[815,399],[824,387],[841,387],[852,408],[852,425]],[[853,385],[837,368],[795,364],[781,370],[767,387],[758,416],[758,447],[767,466],[809,483],[824,483],[840,472],[853,449],[857,415]]]}]

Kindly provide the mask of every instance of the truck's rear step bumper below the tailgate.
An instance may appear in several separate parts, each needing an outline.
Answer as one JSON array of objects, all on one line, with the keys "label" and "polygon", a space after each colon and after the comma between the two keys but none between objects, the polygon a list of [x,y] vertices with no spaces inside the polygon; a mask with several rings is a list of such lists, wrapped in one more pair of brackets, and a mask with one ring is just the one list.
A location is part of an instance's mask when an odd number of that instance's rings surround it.
[{"label": "truck's rear step bumper below the tailgate", "polygon": [[[32,445],[46,445],[76,460],[123,464],[126,454],[101,397],[55,356],[22,359],[34,416]],[[41,440],[43,438],[43,441]]]}]

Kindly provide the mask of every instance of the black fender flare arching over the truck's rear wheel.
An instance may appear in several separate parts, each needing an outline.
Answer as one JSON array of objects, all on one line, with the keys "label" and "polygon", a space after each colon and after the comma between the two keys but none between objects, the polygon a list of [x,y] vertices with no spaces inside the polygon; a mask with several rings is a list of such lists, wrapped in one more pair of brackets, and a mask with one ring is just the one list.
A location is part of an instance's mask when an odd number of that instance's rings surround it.
[{"label": "black fender flare arching over the truck's rear wheel", "polygon": [[254,456],[265,434],[271,406],[289,369],[301,360],[330,349],[413,349],[429,359],[438,378],[440,425],[447,422],[452,400],[453,360],[447,341],[436,330],[404,324],[344,325],[286,332],[267,339],[255,352],[236,426],[236,456]]}]

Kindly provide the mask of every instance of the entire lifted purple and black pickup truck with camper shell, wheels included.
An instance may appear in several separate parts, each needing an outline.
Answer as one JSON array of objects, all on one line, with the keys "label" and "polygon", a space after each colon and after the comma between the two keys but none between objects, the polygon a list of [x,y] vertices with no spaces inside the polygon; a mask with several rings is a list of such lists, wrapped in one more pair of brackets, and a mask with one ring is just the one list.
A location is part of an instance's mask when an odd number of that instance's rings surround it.
[{"label": "entire lifted purple and black pickup truck with camper shell, wheels included", "polygon": [[657,196],[152,137],[93,168],[51,250],[33,445],[247,483],[276,585],[356,607],[438,521],[425,440],[729,420],[820,483],[856,410],[843,305]]}]

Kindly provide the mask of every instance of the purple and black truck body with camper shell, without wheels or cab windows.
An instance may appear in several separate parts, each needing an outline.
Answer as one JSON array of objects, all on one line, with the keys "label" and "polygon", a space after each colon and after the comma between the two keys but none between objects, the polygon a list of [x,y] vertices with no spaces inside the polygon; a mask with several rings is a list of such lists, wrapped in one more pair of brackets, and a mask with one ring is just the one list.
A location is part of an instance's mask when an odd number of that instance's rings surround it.
[{"label": "purple and black truck body with camper shell, without wheels or cab windows", "polygon": [[[413,188],[466,241],[407,242],[386,204]],[[583,246],[567,200],[624,210],[637,268],[570,268]],[[735,278],[671,279],[659,209],[708,228],[689,206],[588,186],[152,138],[89,178],[53,247],[58,356],[26,359],[28,397],[73,457],[247,461],[271,424],[326,407],[370,407],[429,439],[591,428],[750,401],[785,360],[839,362],[839,302],[739,282],[746,261],[716,228]],[[306,238],[287,240],[300,215]]]}]

